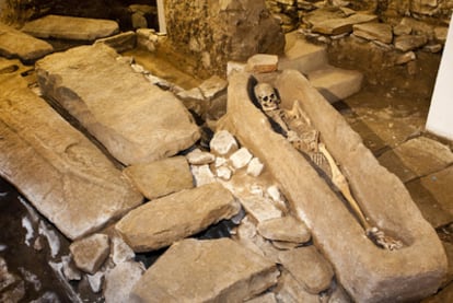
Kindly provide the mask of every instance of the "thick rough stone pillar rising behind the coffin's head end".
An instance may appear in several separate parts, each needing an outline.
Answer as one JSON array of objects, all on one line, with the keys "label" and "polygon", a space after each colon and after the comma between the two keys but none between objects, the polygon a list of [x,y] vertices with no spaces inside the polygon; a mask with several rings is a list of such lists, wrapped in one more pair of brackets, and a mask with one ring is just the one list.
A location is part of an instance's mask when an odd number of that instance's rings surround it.
[{"label": "thick rough stone pillar rising behind the coffin's head end", "polygon": [[179,51],[193,54],[200,69],[224,74],[228,61],[283,50],[282,30],[264,0],[169,0],[164,7],[169,39]]}]

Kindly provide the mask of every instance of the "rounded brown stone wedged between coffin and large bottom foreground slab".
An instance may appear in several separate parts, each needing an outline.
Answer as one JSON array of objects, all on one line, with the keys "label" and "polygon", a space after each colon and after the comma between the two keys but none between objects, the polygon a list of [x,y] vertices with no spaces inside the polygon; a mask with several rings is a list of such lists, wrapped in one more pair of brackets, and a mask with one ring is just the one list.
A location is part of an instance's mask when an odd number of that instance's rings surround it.
[{"label": "rounded brown stone wedged between coffin and large bottom foreground slab", "polygon": [[279,259],[307,292],[317,294],[329,288],[334,278],[334,269],[316,247],[306,246],[282,250]]}]

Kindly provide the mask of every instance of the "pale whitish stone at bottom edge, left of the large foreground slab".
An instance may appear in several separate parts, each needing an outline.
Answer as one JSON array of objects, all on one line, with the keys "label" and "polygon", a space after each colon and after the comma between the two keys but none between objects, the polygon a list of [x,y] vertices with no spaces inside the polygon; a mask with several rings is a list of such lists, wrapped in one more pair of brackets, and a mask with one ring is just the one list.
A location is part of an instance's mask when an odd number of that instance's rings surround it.
[{"label": "pale whitish stone at bottom edge, left of the large foreground slab", "polygon": [[130,302],[129,294],[143,272],[144,267],[136,261],[125,261],[115,266],[105,275],[105,302]]}]

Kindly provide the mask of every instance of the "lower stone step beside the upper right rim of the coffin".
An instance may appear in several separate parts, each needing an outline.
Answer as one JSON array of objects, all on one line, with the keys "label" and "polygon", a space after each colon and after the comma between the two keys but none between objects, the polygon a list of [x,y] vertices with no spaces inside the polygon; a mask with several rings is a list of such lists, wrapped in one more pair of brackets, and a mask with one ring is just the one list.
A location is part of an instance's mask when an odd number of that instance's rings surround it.
[{"label": "lower stone step beside the upper right rim of the coffin", "polygon": [[307,79],[328,102],[335,103],[359,92],[363,75],[356,70],[325,67],[310,72]]}]

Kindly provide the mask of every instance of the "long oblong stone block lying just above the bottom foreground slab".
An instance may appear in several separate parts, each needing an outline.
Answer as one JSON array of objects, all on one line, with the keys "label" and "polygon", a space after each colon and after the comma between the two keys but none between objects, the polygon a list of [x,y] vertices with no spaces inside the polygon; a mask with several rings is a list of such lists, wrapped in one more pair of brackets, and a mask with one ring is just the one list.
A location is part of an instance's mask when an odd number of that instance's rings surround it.
[{"label": "long oblong stone block lying just above the bottom foreground slab", "polygon": [[116,230],[135,252],[149,252],[229,219],[240,205],[228,189],[212,183],[148,202],[124,217]]}]

